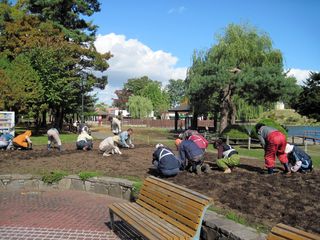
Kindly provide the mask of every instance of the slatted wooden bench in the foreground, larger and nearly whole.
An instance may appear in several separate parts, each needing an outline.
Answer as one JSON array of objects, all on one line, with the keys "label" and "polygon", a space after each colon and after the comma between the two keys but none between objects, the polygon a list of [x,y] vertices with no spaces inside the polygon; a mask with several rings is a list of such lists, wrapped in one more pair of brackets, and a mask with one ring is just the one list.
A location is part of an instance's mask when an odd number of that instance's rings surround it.
[{"label": "slatted wooden bench in the foreground, larger and nearly whole", "polygon": [[135,203],[109,206],[114,214],[148,239],[200,239],[201,224],[212,199],[156,177],[145,179]]}]

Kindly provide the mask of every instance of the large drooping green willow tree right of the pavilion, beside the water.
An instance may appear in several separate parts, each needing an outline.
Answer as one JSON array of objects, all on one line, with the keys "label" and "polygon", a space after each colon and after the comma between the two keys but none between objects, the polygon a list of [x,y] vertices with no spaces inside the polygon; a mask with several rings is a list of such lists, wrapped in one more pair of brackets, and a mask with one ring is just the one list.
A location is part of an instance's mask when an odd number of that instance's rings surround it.
[{"label": "large drooping green willow tree right of the pavilion, beside the water", "polygon": [[234,95],[264,104],[280,100],[284,89],[295,86],[283,73],[282,54],[270,37],[250,25],[235,24],[218,35],[208,51],[194,53],[186,82],[196,114],[218,111],[220,132],[235,122]]}]

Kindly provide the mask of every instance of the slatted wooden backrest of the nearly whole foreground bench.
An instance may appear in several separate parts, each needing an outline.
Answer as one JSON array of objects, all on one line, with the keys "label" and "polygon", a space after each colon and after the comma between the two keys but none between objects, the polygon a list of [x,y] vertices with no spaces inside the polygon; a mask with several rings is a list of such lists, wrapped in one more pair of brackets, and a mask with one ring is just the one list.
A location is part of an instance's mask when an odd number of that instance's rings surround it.
[{"label": "slatted wooden backrest of the nearly whole foreground bench", "polygon": [[212,198],[160,178],[148,177],[137,203],[196,239]]}]

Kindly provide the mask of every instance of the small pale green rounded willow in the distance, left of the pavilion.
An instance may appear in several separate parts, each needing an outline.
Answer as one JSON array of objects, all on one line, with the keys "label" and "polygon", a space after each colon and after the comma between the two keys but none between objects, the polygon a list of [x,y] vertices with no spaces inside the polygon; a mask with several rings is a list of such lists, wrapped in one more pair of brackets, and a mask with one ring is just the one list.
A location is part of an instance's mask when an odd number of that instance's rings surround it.
[{"label": "small pale green rounded willow in the distance, left of the pavilion", "polygon": [[128,109],[132,118],[146,118],[152,112],[152,102],[142,96],[131,96],[128,101]]}]

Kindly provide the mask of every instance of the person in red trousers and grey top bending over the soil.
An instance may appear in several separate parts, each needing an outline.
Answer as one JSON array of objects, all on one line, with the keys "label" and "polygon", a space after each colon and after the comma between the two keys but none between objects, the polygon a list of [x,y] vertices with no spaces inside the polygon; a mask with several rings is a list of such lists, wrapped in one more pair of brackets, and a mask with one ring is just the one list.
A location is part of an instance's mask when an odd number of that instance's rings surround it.
[{"label": "person in red trousers and grey top bending over the soil", "polygon": [[265,126],[263,123],[257,123],[255,129],[260,143],[264,148],[264,160],[268,174],[273,174],[273,169],[276,165],[276,156],[284,166],[284,173],[289,174],[288,157],[284,152],[287,145],[286,136],[279,130]]}]

